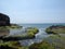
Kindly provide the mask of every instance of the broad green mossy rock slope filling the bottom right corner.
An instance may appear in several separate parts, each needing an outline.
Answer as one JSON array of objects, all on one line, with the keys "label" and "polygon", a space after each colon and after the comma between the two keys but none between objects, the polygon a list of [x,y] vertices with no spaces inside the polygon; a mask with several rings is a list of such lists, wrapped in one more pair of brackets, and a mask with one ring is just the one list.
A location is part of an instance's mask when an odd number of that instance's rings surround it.
[{"label": "broad green mossy rock slope filling the bottom right corner", "polygon": [[60,35],[52,35],[39,44],[32,44],[29,49],[65,49],[65,38]]}]

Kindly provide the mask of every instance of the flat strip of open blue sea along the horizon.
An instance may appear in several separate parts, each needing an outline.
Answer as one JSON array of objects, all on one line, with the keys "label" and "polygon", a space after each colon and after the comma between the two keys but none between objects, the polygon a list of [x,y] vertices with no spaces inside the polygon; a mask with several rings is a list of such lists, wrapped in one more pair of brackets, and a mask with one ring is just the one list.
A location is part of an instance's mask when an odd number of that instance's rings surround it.
[{"label": "flat strip of open blue sea along the horizon", "polygon": [[23,27],[37,27],[37,28],[46,28],[52,25],[65,25],[65,23],[43,23],[43,24],[20,24]]}]

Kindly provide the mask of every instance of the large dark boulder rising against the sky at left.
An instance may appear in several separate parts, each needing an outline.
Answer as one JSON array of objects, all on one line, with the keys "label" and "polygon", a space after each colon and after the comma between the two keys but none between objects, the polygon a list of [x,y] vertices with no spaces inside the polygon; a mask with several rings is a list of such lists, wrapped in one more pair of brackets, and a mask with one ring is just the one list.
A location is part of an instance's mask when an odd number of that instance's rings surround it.
[{"label": "large dark boulder rising against the sky at left", "polygon": [[0,26],[10,26],[10,17],[0,13]]}]

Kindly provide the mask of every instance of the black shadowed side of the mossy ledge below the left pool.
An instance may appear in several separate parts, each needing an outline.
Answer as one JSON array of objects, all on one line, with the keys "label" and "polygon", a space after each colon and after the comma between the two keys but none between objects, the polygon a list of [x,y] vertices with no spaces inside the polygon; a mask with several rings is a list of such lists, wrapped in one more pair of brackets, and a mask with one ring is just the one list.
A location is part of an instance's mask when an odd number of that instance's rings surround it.
[{"label": "black shadowed side of the mossy ledge below the left pool", "polygon": [[12,37],[12,36],[9,36],[9,37],[4,37],[4,36],[1,36],[0,37],[0,40],[4,40],[4,41],[14,41],[14,40],[24,40],[24,39],[32,39],[32,38],[35,38],[35,36],[31,36],[31,37],[29,37],[29,36],[25,36],[25,37]]}]

